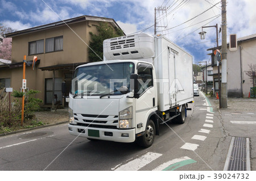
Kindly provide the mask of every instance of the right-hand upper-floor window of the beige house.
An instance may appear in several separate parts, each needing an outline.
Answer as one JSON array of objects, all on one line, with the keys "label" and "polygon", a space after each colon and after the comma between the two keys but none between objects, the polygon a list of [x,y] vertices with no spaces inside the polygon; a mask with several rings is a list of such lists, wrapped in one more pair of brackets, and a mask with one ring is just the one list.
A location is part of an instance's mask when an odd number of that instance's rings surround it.
[{"label": "right-hand upper-floor window of the beige house", "polygon": [[46,53],[63,50],[63,36],[46,39]]}]

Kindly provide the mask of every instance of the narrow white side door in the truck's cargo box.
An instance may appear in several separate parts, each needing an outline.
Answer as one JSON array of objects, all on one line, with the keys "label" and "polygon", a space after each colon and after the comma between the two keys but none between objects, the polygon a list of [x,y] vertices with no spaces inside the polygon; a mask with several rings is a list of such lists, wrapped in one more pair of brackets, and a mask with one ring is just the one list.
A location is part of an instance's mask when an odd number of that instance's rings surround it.
[{"label": "narrow white side door in the truck's cargo box", "polygon": [[172,50],[170,47],[169,49],[169,98],[170,98],[170,105],[175,106],[176,103],[176,72],[175,72],[175,50]]}]

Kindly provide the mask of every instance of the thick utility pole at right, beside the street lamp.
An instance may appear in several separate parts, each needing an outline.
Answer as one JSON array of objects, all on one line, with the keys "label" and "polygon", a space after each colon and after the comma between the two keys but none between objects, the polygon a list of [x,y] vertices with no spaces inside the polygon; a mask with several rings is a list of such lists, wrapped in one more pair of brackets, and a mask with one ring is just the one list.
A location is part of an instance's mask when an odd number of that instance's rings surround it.
[{"label": "thick utility pole at right, beside the street lamp", "polygon": [[222,27],[222,61],[221,61],[221,108],[228,107],[227,89],[227,48],[226,48],[226,0],[221,0],[221,27]]}]

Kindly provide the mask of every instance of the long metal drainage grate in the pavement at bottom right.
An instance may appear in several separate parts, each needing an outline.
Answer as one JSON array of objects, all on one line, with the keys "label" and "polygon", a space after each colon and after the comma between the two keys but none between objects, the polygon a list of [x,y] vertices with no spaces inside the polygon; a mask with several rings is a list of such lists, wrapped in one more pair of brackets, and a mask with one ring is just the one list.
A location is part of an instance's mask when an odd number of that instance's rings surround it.
[{"label": "long metal drainage grate in the pavement at bottom right", "polygon": [[249,138],[232,137],[224,170],[250,170]]}]

